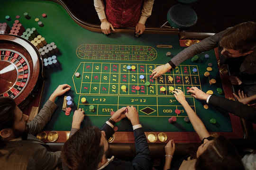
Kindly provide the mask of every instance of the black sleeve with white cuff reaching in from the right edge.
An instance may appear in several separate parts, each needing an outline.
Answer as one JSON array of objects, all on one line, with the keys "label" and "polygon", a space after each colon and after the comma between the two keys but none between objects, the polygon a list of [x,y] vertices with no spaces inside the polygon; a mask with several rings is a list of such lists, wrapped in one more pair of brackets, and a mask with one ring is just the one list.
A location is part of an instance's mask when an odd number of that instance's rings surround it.
[{"label": "black sleeve with white cuff reaching in from the right edge", "polygon": [[218,106],[219,108],[226,110],[236,116],[248,119],[253,123],[256,123],[256,108],[252,106],[218,97],[216,95],[210,96],[209,103]]}]

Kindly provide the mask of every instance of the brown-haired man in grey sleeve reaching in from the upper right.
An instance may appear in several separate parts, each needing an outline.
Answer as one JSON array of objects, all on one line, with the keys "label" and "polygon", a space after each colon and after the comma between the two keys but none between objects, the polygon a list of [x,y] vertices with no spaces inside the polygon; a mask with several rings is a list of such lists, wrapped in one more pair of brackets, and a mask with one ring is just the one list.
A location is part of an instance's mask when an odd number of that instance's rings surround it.
[{"label": "brown-haired man in grey sleeve reaching in from the upper right", "polygon": [[155,68],[153,78],[177,67],[186,59],[215,47],[218,47],[220,66],[229,64],[229,70],[236,74],[229,76],[231,84],[242,84],[247,96],[256,94],[256,23],[250,21],[227,28],[187,47],[165,65]]}]

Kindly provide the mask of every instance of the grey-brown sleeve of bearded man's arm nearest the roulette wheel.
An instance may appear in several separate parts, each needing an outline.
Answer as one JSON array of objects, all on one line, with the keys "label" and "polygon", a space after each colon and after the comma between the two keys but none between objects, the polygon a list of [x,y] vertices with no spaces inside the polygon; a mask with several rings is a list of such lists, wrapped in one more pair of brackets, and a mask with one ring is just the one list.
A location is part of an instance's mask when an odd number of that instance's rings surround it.
[{"label": "grey-brown sleeve of bearded man's arm nearest the roulette wheel", "polygon": [[46,124],[50,121],[53,112],[57,107],[57,104],[48,100],[37,116],[35,116],[31,122],[27,123],[29,126],[29,132],[32,135],[36,135],[37,133],[41,132]]}]

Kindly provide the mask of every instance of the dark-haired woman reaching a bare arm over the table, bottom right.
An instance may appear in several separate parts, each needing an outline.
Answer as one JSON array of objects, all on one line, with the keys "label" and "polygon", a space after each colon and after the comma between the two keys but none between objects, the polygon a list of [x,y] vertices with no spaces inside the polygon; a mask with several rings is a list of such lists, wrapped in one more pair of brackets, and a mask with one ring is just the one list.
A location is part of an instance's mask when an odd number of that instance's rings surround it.
[{"label": "dark-haired woman reaching a bare arm over the table, bottom right", "polygon": [[[216,138],[210,136],[201,119],[189,106],[184,93],[179,89],[175,89],[173,92],[177,101],[180,102],[186,110],[190,122],[197,135],[200,137],[202,144],[197,149],[195,159],[186,156],[174,162],[173,166],[171,166],[170,160],[166,161],[165,159],[164,170],[244,170],[243,163],[233,144],[224,136]],[[168,153],[173,154],[174,150],[175,145],[172,141],[169,141],[165,146],[166,155],[168,155]]]}]

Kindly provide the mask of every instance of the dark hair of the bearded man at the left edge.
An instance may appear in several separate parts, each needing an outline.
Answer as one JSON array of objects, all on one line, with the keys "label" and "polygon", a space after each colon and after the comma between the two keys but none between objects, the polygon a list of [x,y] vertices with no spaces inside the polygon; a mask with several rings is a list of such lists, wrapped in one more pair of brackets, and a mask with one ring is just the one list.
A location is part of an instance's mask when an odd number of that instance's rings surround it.
[{"label": "dark hair of the bearded man at the left edge", "polygon": [[[4,128],[12,128],[15,121],[16,103],[10,97],[0,97],[0,130]],[[0,146],[3,145],[0,136]]]}]

